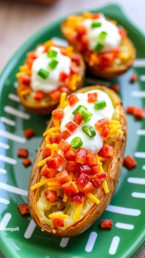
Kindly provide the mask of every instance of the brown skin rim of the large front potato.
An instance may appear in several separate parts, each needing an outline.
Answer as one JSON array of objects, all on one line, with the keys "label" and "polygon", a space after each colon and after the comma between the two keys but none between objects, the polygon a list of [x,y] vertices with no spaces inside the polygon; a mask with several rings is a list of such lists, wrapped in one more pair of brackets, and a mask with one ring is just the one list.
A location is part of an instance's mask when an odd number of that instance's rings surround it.
[{"label": "brown skin rim of the large front potato", "polygon": [[[54,231],[51,228],[49,228],[47,225],[42,224],[36,212],[36,195],[38,193],[36,193],[37,192],[36,189],[32,191],[30,187],[36,184],[40,178],[41,168],[38,168],[37,163],[38,161],[43,159],[43,148],[45,146],[45,139],[43,139],[31,171],[29,190],[28,190],[28,205],[29,205],[31,217],[33,218],[37,226],[43,229],[44,232],[50,235],[53,235],[55,237],[73,237],[82,233],[87,228],[89,228],[96,220],[99,219],[99,217],[105,211],[106,207],[111,201],[112,195],[118,183],[120,170],[123,164],[123,154],[124,154],[126,135],[127,135],[126,114],[119,96],[113,90],[107,87],[99,86],[99,85],[89,86],[78,90],[76,93],[78,92],[84,93],[95,89],[103,90],[106,93],[111,93],[111,95],[114,97],[114,99],[116,100],[116,103],[119,105],[119,108],[120,108],[120,123],[122,124],[121,130],[124,131],[124,135],[118,135],[118,138],[114,147],[114,156],[111,160],[111,164],[109,167],[109,176],[107,178],[109,193],[105,194],[104,191],[102,190],[99,196],[99,200],[100,200],[99,205],[94,204],[92,208],[85,214],[85,216],[81,220],[79,220],[79,222],[74,223],[72,226],[68,227],[63,231],[56,230],[56,232],[54,233]],[[53,124],[51,119],[49,125],[47,126],[47,129],[52,127],[52,125]]]}]

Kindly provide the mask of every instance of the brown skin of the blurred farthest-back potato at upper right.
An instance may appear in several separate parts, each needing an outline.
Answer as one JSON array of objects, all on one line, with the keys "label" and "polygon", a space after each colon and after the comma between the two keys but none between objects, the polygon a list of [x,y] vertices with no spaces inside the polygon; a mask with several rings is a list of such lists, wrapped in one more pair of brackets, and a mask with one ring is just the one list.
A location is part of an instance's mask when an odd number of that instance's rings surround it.
[{"label": "brown skin of the blurred farthest-back potato at upper right", "polygon": [[[71,44],[69,37],[65,33],[65,22],[66,21],[63,21],[61,23],[61,33],[62,33],[63,37],[69,42],[69,44]],[[131,40],[128,37],[126,37],[124,39],[124,42],[125,42],[125,45],[128,46],[128,49],[130,49],[130,52],[131,52],[131,58],[126,65],[120,67],[119,69],[109,67],[105,70],[100,70],[100,69],[98,69],[97,65],[89,66],[89,59],[84,58],[87,70],[95,76],[106,78],[106,79],[113,79],[121,74],[124,74],[124,72],[126,72],[132,66],[134,59],[136,57],[135,47],[134,47],[133,43],[131,42]]]}]

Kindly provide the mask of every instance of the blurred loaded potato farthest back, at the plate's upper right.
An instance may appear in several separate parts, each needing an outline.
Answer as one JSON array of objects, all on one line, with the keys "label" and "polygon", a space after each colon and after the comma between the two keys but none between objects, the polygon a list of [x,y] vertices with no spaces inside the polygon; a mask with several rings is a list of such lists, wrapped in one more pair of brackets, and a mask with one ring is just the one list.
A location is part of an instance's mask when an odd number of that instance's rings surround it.
[{"label": "blurred loaded potato farthest back, at the plate's upper right", "polygon": [[61,31],[83,54],[88,70],[95,76],[117,77],[134,61],[135,48],[125,29],[101,13],[71,15],[61,24]]}]

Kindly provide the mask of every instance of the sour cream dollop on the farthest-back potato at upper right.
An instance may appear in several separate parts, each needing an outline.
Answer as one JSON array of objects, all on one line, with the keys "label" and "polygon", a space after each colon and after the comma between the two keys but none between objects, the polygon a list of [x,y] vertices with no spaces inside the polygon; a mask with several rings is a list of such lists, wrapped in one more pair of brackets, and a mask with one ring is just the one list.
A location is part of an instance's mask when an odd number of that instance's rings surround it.
[{"label": "sour cream dollop on the farthest-back potato at upper right", "polygon": [[[100,22],[101,26],[92,28],[92,22]],[[89,39],[89,50],[94,50],[95,46],[98,43],[104,45],[100,52],[110,51],[115,47],[118,47],[121,42],[121,36],[119,34],[118,27],[112,23],[111,21],[107,20],[103,14],[100,14],[98,19],[85,19],[83,21],[83,25],[87,30],[87,37]],[[107,33],[105,39],[100,39],[99,35],[102,31]]]}]

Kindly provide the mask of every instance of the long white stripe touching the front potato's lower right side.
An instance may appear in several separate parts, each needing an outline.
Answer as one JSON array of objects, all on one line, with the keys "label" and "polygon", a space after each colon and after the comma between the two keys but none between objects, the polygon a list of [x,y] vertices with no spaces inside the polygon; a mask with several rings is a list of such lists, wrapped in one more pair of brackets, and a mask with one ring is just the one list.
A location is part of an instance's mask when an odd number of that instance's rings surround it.
[{"label": "long white stripe touching the front potato's lower right side", "polygon": [[138,209],[130,209],[130,208],[124,208],[114,205],[108,205],[106,211],[115,212],[119,214],[124,215],[130,215],[130,216],[139,216],[141,214],[141,211]]}]

